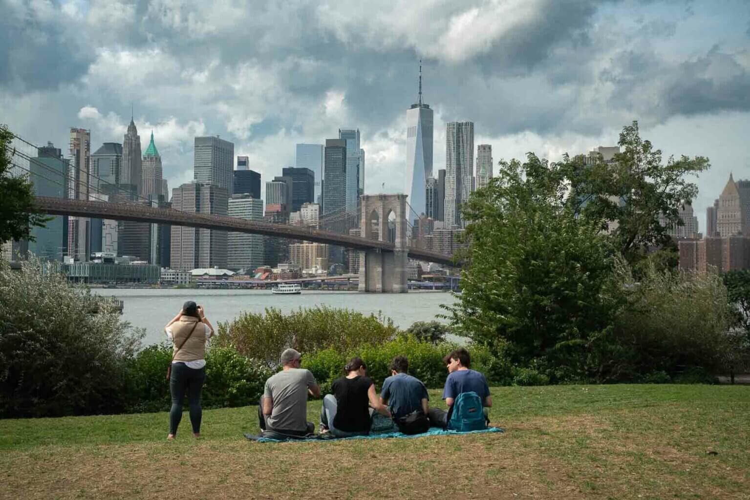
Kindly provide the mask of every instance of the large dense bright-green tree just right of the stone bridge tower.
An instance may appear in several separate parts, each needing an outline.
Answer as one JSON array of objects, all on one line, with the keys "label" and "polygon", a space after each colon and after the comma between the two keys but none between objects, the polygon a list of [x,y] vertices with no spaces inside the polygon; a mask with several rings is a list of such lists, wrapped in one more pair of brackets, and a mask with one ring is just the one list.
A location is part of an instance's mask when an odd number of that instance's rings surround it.
[{"label": "large dense bright-green tree just right of the stone bridge tower", "polygon": [[585,376],[613,311],[602,291],[615,250],[600,218],[577,213],[567,167],[534,154],[501,161],[499,175],[472,194],[462,293],[446,307],[457,333],[514,364],[568,367],[553,380]]}]

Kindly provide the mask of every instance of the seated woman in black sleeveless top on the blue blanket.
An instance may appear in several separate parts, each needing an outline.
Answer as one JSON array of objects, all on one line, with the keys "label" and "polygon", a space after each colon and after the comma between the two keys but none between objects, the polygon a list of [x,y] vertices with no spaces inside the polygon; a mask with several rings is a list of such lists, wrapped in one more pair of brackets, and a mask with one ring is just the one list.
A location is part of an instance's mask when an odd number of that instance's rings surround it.
[{"label": "seated woman in black sleeveless top on the blue blanket", "polygon": [[373,381],[365,376],[362,358],[353,358],[344,371],[347,376],[336,379],[331,387],[333,394],[323,398],[320,432],[339,438],[369,434],[370,406],[386,417],[390,418],[391,413],[380,404]]}]

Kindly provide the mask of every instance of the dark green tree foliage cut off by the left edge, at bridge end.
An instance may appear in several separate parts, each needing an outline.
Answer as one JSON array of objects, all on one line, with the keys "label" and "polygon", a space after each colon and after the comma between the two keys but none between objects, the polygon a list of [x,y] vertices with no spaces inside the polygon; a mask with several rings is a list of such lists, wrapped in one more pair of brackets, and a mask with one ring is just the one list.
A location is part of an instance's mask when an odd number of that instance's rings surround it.
[{"label": "dark green tree foliage cut off by the left edge, at bridge end", "polygon": [[32,226],[44,226],[47,217],[34,208],[34,191],[26,176],[10,175],[13,133],[0,124],[0,244],[31,239]]}]

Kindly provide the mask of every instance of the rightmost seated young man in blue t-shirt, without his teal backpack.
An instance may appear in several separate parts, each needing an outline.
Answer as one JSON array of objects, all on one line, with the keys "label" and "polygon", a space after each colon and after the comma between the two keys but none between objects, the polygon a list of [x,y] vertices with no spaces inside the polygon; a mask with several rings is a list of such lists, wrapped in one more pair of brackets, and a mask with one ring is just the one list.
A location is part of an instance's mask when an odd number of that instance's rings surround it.
[{"label": "rightmost seated young man in blue t-shirt, without his teal backpack", "polygon": [[463,347],[456,349],[451,354],[443,358],[443,362],[448,368],[448,379],[446,387],[443,389],[443,399],[448,405],[448,412],[439,408],[431,408],[428,412],[430,423],[434,427],[448,427],[453,412],[453,403],[459,394],[463,392],[475,392],[481,399],[484,406],[484,419],[489,424],[487,418],[487,408],[492,406],[492,396],[490,396],[490,387],[487,385],[487,379],[478,371],[471,370],[471,356]]}]

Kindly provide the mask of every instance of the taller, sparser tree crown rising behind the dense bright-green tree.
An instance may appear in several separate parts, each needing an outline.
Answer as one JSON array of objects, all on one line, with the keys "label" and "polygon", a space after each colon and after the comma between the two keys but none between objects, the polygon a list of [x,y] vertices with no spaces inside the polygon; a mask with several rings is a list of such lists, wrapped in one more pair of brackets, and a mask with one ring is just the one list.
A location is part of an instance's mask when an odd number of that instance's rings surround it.
[{"label": "taller, sparser tree crown rising behind the dense bright-green tree", "polygon": [[709,160],[682,155],[663,163],[661,150],[640,138],[637,121],[623,127],[618,144],[621,151],[611,162],[599,157],[586,165],[583,157],[565,157],[560,168],[568,171],[577,210],[603,221],[619,252],[635,262],[670,240],[660,214],[667,225],[682,225],[679,209],[697,195],[697,185],[686,177],[708,169]]}]

